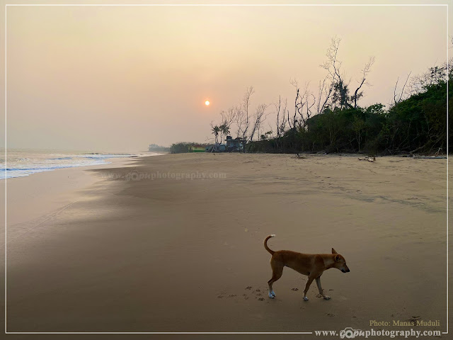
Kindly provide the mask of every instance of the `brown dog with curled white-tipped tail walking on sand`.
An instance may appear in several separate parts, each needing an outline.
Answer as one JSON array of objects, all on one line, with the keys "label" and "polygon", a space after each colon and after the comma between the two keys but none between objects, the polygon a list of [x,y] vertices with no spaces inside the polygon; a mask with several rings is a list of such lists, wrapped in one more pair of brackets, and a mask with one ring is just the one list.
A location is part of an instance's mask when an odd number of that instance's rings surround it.
[{"label": "brown dog with curled white-tipped tail walking on sand", "polygon": [[272,285],[276,280],[282,277],[283,268],[285,266],[309,277],[308,280],[306,280],[304,290],[305,301],[309,300],[308,297],[306,297],[306,292],[309,291],[309,287],[313,280],[316,280],[319,294],[326,300],[331,298],[324,295],[323,288],[321,288],[321,275],[323,275],[323,271],[326,271],[329,268],[337,268],[340,271],[343,271],[343,273],[348,273],[350,271],[348,266],[346,266],[345,258],[338,254],[333,248],[332,254],[302,254],[290,250],[273,251],[268,247],[268,239],[271,237],[275,237],[275,235],[269,235],[264,240],[265,249],[272,255],[272,258],[270,259],[272,278],[268,280],[269,297],[271,299],[275,297]]}]

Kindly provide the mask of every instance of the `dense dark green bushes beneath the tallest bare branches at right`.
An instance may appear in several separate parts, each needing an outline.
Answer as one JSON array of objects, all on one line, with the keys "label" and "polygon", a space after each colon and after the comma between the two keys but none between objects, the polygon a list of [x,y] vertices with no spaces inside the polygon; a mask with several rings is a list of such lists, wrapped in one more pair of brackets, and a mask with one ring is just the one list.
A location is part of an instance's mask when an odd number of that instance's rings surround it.
[{"label": "dense dark green bushes beneath the tallest bare branches at right", "polygon": [[[250,152],[366,152],[367,154],[415,154],[447,151],[448,115],[452,117],[452,63],[430,67],[398,82],[389,109],[382,103],[357,105],[361,92],[348,95],[348,86],[333,84],[330,102],[314,115],[277,104],[276,134],[261,137],[247,146]],[[365,77],[364,77],[365,78]],[[410,84],[408,84],[408,80]],[[448,81],[447,81],[448,80]],[[448,99],[447,99],[448,86]],[[360,95],[360,96],[359,96]],[[306,105],[306,103],[305,103]],[[309,106],[308,106],[309,107]],[[280,119],[280,112],[283,113]],[[285,115],[286,113],[286,115]],[[452,132],[449,126],[449,132]]]}]

